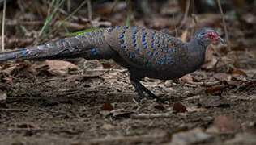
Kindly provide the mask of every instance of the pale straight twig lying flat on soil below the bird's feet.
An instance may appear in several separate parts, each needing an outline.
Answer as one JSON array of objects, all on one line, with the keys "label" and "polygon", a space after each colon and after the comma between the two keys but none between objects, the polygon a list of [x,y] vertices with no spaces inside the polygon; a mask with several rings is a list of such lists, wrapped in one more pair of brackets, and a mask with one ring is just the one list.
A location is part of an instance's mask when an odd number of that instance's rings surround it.
[{"label": "pale straight twig lying flat on soil below the bird's feet", "polygon": [[170,118],[173,114],[163,113],[163,114],[130,114],[131,118],[139,119],[149,119],[149,118]]}]

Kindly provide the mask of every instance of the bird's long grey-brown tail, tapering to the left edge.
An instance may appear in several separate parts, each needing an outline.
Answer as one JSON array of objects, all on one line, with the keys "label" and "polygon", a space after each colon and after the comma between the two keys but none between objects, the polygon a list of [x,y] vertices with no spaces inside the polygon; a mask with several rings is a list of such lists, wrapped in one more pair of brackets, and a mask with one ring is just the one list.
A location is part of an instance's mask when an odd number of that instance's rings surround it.
[{"label": "bird's long grey-brown tail, tapering to the left edge", "polygon": [[11,59],[110,58],[114,51],[105,42],[105,29],[58,39],[47,44],[0,53],[0,61]]}]

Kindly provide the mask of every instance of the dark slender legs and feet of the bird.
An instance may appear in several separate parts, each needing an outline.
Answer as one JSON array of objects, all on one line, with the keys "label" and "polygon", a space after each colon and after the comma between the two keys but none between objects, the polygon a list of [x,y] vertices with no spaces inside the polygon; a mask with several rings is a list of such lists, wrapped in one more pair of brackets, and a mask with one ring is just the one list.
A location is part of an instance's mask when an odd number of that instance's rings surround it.
[{"label": "dark slender legs and feet of the bird", "polygon": [[134,85],[134,88],[139,93],[140,97],[147,97],[143,92],[148,94],[148,97],[151,97],[153,99],[156,99],[159,102],[163,102],[163,100],[160,99],[160,97],[157,97],[154,93],[151,93],[150,90],[148,90],[144,85],[142,85],[140,82],[140,79],[131,76],[130,75],[130,83]]}]

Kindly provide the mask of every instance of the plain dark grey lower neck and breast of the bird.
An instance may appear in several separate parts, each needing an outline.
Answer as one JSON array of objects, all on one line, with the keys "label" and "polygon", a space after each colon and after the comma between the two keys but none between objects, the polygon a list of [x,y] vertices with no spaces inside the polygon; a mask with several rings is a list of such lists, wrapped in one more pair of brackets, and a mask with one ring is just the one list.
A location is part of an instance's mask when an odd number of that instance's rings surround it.
[{"label": "plain dark grey lower neck and breast of the bird", "polygon": [[200,43],[198,39],[195,38],[191,39],[188,43],[188,54],[190,62],[188,68],[190,69],[190,72],[194,72],[203,64],[206,47],[207,46]]}]

